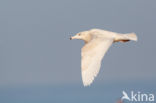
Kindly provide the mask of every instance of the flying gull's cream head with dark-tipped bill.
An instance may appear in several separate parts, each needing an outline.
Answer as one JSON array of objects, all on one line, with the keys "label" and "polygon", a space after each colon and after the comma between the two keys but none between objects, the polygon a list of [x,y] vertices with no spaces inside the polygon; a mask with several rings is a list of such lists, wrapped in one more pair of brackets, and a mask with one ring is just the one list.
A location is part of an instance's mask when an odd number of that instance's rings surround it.
[{"label": "flying gull's cream head with dark-tipped bill", "polygon": [[84,40],[85,42],[88,42],[91,39],[91,35],[89,31],[79,32],[75,36],[70,37],[70,40],[73,39],[80,39]]}]

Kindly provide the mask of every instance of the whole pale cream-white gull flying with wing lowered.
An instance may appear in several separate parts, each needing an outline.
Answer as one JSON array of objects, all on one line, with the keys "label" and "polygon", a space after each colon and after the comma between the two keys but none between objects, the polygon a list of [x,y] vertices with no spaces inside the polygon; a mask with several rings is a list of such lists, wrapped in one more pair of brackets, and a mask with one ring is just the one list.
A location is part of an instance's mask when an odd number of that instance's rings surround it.
[{"label": "whole pale cream-white gull flying with wing lowered", "polygon": [[89,86],[99,73],[101,61],[109,49],[116,42],[128,42],[130,40],[137,41],[135,33],[115,33],[101,29],[91,29],[82,31],[72,39],[80,39],[85,42],[81,49],[81,75],[84,86]]}]

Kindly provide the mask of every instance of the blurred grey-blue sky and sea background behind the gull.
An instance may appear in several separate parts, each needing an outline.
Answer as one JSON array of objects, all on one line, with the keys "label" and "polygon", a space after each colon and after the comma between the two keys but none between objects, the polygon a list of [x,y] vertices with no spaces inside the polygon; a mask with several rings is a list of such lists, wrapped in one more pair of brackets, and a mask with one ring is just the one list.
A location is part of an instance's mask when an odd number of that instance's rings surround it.
[{"label": "blurred grey-blue sky and sea background behind the gull", "polygon": [[[115,103],[122,91],[156,95],[155,0],[1,0],[0,103]],[[77,32],[135,32],[116,43],[83,87]],[[126,101],[128,102],[128,101]]]}]

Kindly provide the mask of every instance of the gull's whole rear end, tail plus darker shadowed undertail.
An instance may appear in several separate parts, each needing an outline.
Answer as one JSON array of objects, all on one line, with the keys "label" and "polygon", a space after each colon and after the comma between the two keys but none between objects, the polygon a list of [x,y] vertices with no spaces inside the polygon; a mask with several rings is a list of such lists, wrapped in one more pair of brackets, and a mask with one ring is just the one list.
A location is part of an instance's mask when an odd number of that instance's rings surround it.
[{"label": "gull's whole rear end, tail plus darker shadowed undertail", "polygon": [[128,42],[130,40],[137,41],[138,38],[135,33],[117,34],[114,42]]}]

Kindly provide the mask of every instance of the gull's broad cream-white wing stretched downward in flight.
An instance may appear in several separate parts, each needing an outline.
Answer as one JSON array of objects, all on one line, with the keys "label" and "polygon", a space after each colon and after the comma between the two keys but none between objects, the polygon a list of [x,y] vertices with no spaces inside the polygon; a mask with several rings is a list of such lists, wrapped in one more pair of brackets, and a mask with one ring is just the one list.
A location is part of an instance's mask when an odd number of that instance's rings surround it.
[{"label": "gull's broad cream-white wing stretched downward in flight", "polygon": [[113,39],[96,38],[81,49],[81,73],[84,86],[90,85],[97,76],[101,61]]}]

